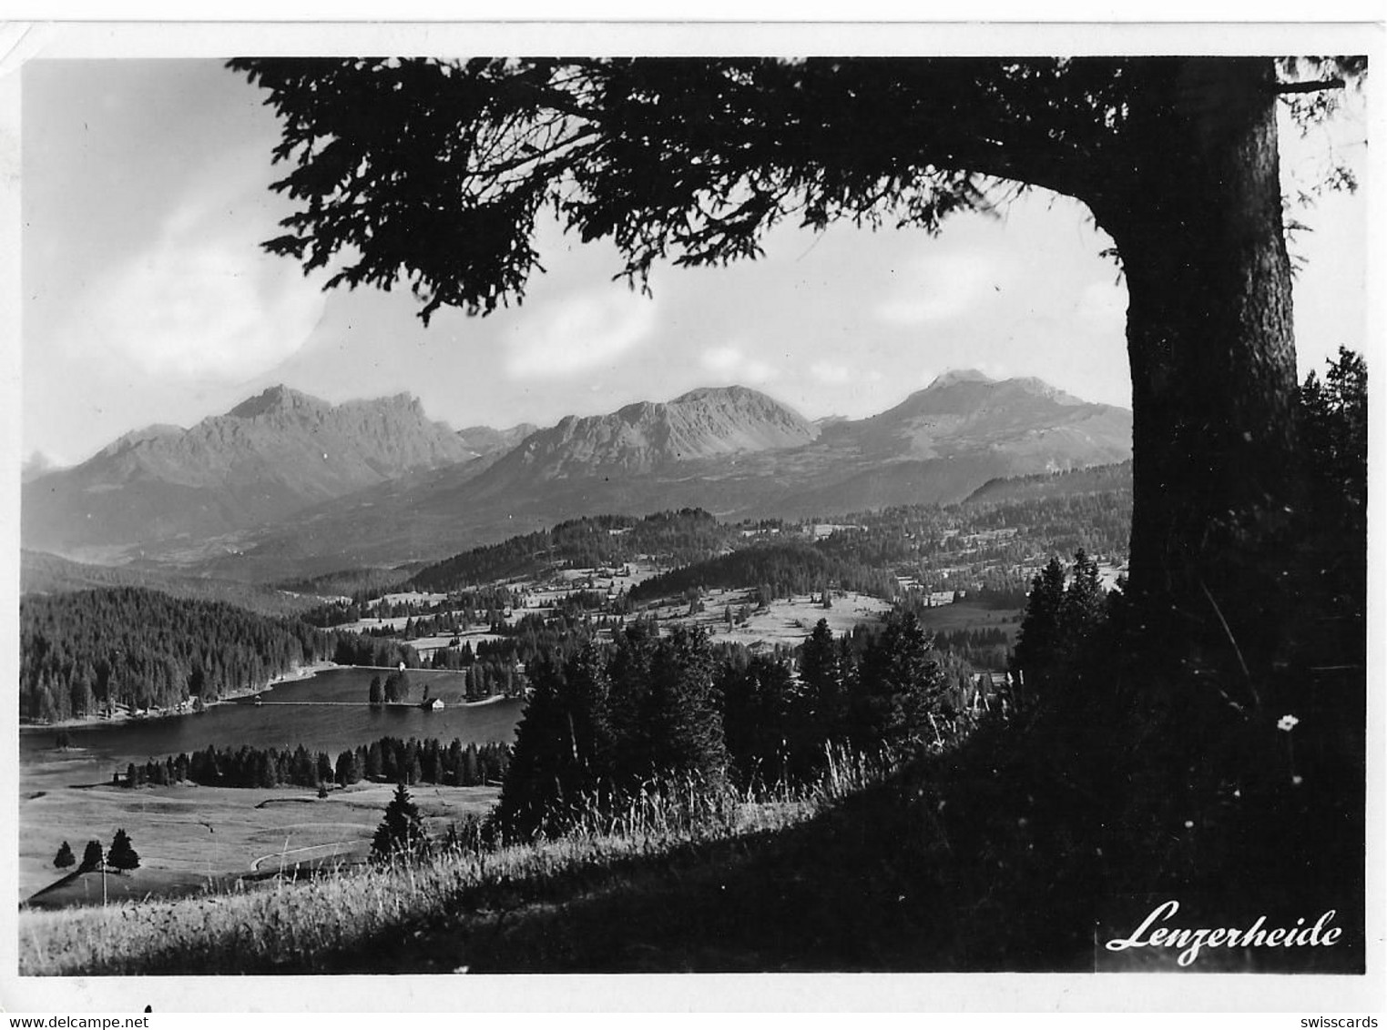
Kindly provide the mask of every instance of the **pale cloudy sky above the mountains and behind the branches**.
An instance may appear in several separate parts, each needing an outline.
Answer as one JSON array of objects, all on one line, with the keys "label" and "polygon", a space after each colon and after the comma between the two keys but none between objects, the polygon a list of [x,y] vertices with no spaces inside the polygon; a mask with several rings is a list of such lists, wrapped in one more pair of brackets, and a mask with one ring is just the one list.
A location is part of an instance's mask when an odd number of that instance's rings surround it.
[{"label": "pale cloudy sky above the mountains and behind the branches", "polygon": [[[1126,294],[1110,240],[1032,191],[938,237],[788,225],[766,256],[613,281],[608,244],[541,232],[548,273],[487,317],[408,290],[325,294],[261,251],[288,213],[269,189],[277,122],[211,60],[37,60],[22,71],[22,453],[68,464],[135,428],[191,426],[284,383],[326,401],[409,392],[455,428],[610,412],[699,385],[763,390],[807,417],[861,417],[949,369],[1037,376],[1130,405]],[[1352,112],[1283,132],[1287,176],[1333,150],[1363,176]],[[1295,216],[1301,374],[1363,349],[1366,190]]]}]

